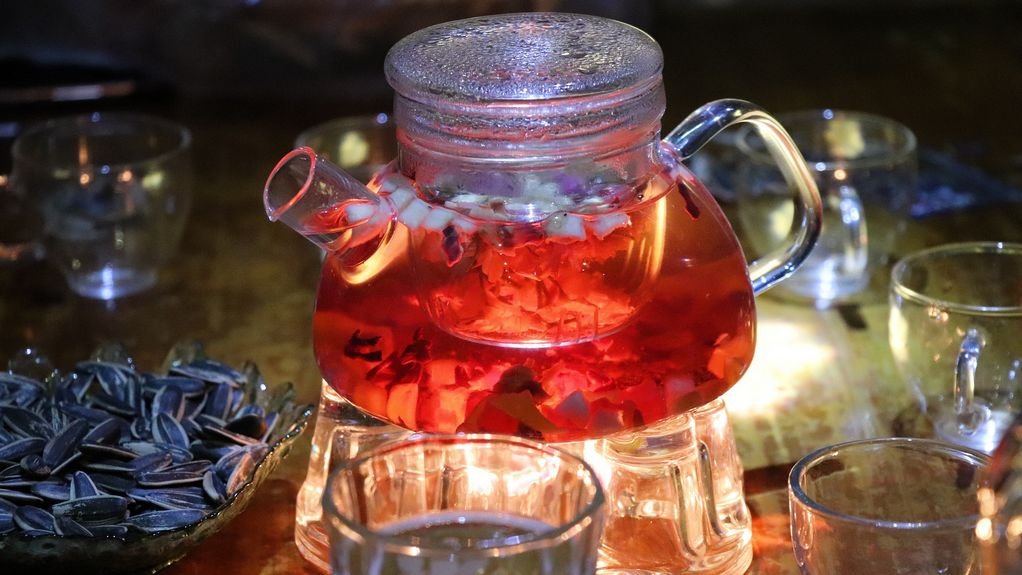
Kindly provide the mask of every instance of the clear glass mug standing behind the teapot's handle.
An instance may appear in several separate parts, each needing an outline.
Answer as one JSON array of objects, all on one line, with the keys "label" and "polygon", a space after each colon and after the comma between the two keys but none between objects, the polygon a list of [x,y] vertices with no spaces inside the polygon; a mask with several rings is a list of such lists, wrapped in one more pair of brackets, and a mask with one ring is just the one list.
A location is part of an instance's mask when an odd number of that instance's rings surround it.
[{"label": "clear glass mug standing behind the teapot's handle", "polygon": [[[777,293],[818,305],[854,297],[886,269],[917,191],[916,137],[897,122],[823,109],[778,114],[805,156],[824,204],[812,252]],[[744,130],[735,187],[749,246],[762,253],[783,243],[794,215],[792,191],[762,138]],[[882,292],[881,292],[882,293]]]}]

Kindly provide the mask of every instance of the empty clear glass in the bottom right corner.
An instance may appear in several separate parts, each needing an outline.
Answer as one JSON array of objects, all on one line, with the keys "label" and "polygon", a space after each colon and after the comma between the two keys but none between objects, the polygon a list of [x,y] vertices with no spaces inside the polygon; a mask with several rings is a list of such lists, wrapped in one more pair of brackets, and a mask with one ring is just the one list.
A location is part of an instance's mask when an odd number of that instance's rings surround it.
[{"label": "empty clear glass in the bottom right corner", "polygon": [[976,573],[986,456],[932,439],[824,447],[788,480],[791,539],[806,575]]}]

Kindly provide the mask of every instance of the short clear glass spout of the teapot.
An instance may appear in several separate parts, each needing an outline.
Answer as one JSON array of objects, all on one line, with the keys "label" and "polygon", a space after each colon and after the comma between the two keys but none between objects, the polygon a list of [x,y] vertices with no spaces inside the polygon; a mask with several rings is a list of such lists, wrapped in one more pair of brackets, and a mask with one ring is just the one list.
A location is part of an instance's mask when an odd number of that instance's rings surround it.
[{"label": "short clear glass spout of the teapot", "polygon": [[389,201],[308,147],[277,162],[263,188],[263,204],[271,222],[283,222],[330,252],[380,238],[393,217]]}]

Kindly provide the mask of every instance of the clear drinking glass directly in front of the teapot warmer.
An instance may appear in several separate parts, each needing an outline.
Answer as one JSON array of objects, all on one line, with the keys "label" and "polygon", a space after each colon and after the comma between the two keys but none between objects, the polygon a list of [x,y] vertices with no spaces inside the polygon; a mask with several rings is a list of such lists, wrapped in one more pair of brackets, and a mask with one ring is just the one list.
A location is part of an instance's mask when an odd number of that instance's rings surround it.
[{"label": "clear drinking glass directly in front of the teapot warmer", "polygon": [[416,436],[336,471],[323,508],[337,575],[586,575],[604,495],[588,464],[542,443]]}]

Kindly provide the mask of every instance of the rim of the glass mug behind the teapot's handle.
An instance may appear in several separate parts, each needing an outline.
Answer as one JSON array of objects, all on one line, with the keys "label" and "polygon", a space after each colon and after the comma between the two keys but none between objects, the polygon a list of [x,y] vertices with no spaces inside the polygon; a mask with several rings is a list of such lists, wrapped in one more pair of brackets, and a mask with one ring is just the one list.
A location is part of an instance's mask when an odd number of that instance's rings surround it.
[{"label": "rim of the glass mug behind the teapot's handle", "polygon": [[[831,117],[827,117],[830,114]],[[824,121],[833,122],[837,117],[845,117],[856,119],[863,124],[870,124],[873,126],[889,126],[897,131],[897,133],[902,136],[903,142],[900,146],[896,146],[894,150],[883,156],[868,156],[863,158],[851,158],[851,159],[831,159],[825,161],[805,161],[805,164],[809,167],[811,172],[833,172],[838,169],[842,170],[855,170],[863,167],[874,167],[877,165],[886,165],[891,163],[897,163],[903,161],[905,158],[910,157],[912,154],[916,153],[918,146],[916,134],[908,126],[901,124],[900,122],[887,117],[884,115],[870,113],[858,110],[841,109],[841,108],[814,108],[814,109],[802,109],[802,110],[792,110],[787,112],[780,112],[774,114],[774,118],[781,125],[782,128],[791,136],[791,130],[788,125],[792,125],[796,122],[803,123],[806,121]],[[753,146],[749,143],[749,138],[752,135],[757,134],[756,130],[752,126],[745,126],[741,128],[735,137],[735,145],[743,153],[748,155],[754,161],[760,163],[773,163],[774,159],[770,155],[770,150],[760,149],[759,147]],[[795,142],[795,146],[798,147],[798,142],[792,138]],[[799,150],[799,153],[802,153]],[[804,154],[803,154],[804,155]]]}]

